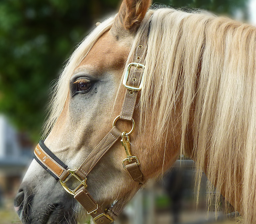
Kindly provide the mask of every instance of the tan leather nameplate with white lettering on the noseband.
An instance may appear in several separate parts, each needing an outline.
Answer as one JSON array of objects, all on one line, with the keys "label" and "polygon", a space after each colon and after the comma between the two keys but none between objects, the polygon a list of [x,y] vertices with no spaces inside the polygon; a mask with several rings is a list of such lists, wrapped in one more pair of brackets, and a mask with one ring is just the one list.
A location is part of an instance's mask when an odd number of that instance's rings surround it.
[{"label": "tan leather nameplate with white lettering on the noseband", "polygon": [[34,150],[34,154],[48,169],[56,176],[60,177],[63,169],[40,147],[38,144]]}]

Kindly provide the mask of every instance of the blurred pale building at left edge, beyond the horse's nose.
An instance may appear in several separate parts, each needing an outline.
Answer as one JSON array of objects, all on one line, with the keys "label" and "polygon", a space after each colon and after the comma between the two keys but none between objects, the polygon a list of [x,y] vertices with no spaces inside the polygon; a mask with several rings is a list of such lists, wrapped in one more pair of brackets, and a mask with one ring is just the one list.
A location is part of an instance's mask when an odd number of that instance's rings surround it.
[{"label": "blurred pale building at left edge, beyond the horse's nose", "polygon": [[33,144],[0,115],[0,194],[13,196],[32,161]]}]

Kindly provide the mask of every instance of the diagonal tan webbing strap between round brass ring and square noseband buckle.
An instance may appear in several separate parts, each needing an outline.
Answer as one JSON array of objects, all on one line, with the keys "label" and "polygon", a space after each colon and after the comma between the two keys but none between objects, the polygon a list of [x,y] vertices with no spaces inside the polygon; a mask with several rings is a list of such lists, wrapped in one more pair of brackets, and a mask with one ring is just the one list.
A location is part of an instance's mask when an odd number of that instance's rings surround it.
[{"label": "diagonal tan webbing strap between round brass ring and square noseband buckle", "polygon": [[75,172],[82,179],[85,179],[92,168],[97,164],[101,157],[111,148],[111,146],[121,137],[122,133],[116,128],[112,129],[100,141],[100,143],[87,156],[82,165]]}]

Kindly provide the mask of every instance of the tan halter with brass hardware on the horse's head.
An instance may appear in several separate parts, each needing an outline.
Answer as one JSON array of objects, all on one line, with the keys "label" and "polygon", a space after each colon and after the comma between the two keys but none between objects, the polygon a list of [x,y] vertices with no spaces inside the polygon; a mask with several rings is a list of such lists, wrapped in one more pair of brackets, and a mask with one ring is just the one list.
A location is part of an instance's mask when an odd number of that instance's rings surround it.
[{"label": "tan halter with brass hardware on the horse's head", "polygon": [[[84,162],[78,169],[67,169],[65,165],[54,153],[50,151],[42,140],[34,150],[35,160],[48,171],[56,180],[59,180],[62,187],[85,208],[87,214],[93,217],[96,224],[109,224],[112,223],[118,215],[122,212],[123,208],[128,202],[131,195],[127,195],[122,200],[117,201],[109,210],[105,212],[98,206],[97,202],[92,198],[87,191],[86,180],[87,176],[93,167],[99,162],[101,157],[111,148],[111,146],[121,137],[121,143],[125,149],[127,157],[123,159],[123,167],[128,171],[134,181],[143,182],[143,174],[139,168],[140,162],[137,156],[132,155],[130,145],[130,135],[135,129],[135,121],[133,119],[133,112],[136,105],[138,91],[142,89],[144,82],[144,63],[147,54],[147,40],[149,34],[149,27],[145,29],[134,49],[133,61],[125,69],[123,78],[123,85],[126,87],[124,101],[120,115],[113,121],[113,127],[107,135],[100,141],[100,143],[92,150]],[[119,131],[116,127],[117,120],[126,120],[132,122],[132,129],[127,131]],[[79,185],[70,189],[67,182],[70,178],[75,178]],[[139,188],[137,189],[139,190]]]}]

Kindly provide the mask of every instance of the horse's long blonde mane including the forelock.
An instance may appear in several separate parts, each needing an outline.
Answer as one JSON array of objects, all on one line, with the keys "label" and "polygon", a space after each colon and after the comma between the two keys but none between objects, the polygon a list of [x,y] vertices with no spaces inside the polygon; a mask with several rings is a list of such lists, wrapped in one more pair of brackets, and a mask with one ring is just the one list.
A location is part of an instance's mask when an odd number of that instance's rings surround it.
[{"label": "horse's long blonde mane including the forelock", "polygon": [[[197,170],[207,172],[209,181],[240,209],[245,223],[256,223],[256,28],[206,13],[150,10],[131,52],[149,22],[140,127],[151,121],[151,134],[158,136],[155,144],[163,145],[173,128],[170,123],[181,123],[176,133],[181,135],[181,153],[191,137]],[[113,18],[99,25],[72,54],[60,76],[45,133],[62,111],[70,74],[112,23]]]}]

